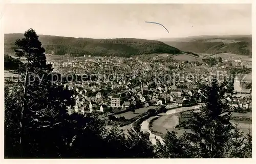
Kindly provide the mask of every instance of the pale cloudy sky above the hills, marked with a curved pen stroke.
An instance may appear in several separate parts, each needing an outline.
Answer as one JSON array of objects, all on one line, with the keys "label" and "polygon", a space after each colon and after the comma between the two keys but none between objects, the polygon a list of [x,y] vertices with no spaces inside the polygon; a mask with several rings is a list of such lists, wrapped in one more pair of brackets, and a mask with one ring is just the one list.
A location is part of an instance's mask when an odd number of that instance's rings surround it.
[{"label": "pale cloudy sky above the hills, marked with a curved pen stroke", "polygon": [[5,33],[33,28],[44,35],[153,39],[252,32],[250,4],[8,4],[3,15]]}]

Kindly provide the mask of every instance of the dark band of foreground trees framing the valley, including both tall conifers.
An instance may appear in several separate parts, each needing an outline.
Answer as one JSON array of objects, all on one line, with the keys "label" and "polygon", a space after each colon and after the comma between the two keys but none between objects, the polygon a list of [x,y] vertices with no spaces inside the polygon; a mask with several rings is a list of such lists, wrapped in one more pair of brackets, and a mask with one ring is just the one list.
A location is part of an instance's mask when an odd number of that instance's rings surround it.
[{"label": "dark band of foreground trees framing the valley, including both tall conifers", "polygon": [[[105,126],[97,115],[68,113],[67,107],[74,105],[70,91],[50,80],[52,67],[46,64],[45,49],[35,31],[29,29],[24,36],[15,43],[19,48],[16,55],[27,58],[26,67],[18,69],[24,82],[5,87],[6,158],[251,156],[250,135],[244,144],[230,139],[241,135],[229,123],[230,112],[221,102],[223,91],[216,81],[204,86],[206,105],[187,124],[193,133],[178,138],[168,132],[164,145],[158,141],[153,146],[148,134],[129,131],[125,137],[122,131]],[[37,75],[36,79],[32,75]],[[224,112],[227,114],[221,115]]]}]

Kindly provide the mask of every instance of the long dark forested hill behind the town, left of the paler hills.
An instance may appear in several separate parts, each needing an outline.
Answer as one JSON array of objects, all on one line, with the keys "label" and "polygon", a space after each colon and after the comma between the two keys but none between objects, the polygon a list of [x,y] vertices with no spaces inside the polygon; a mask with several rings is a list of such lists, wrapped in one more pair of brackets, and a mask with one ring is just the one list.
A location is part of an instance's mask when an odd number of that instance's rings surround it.
[{"label": "long dark forested hill behind the town, left of the paler hills", "polygon": [[[14,52],[15,41],[22,37],[24,37],[23,34],[5,34],[5,53]],[[141,54],[180,53],[180,50],[161,41],[146,39],[91,39],[39,35],[39,40],[46,49],[46,54],[54,53],[56,55],[131,57]]]}]

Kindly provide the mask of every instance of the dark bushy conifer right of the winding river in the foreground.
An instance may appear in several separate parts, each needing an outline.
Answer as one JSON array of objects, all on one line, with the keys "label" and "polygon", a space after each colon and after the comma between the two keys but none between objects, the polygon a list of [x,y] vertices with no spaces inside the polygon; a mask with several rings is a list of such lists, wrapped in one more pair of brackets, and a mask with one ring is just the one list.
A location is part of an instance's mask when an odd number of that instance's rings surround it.
[{"label": "dark bushy conifer right of the winding river in the foreground", "polygon": [[230,137],[232,125],[230,109],[222,102],[224,91],[219,87],[214,77],[210,85],[204,85],[200,112],[193,112],[193,117],[188,120],[187,128],[192,131],[188,134],[198,157],[220,158],[223,157],[224,147]]}]

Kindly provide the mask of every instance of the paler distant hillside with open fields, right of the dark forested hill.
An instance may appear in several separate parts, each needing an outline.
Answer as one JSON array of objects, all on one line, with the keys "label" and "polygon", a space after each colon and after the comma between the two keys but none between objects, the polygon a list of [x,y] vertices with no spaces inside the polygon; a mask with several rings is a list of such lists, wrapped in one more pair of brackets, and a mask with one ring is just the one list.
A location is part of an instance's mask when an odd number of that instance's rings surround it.
[{"label": "paler distant hillside with open fields, right of the dark forested hill", "polygon": [[182,51],[195,53],[232,53],[245,56],[251,56],[252,54],[251,35],[196,36],[177,39],[163,38],[159,40]]}]

